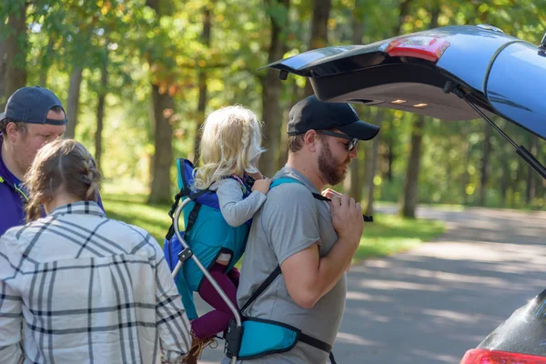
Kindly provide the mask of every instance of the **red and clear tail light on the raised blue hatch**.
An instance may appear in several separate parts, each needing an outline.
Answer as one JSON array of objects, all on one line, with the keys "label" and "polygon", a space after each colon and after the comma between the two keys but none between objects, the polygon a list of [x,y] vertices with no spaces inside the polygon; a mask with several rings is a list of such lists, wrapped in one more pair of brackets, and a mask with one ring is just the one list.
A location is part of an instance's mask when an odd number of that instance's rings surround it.
[{"label": "red and clear tail light on the raised blue hatch", "polygon": [[411,35],[393,40],[385,52],[389,56],[411,56],[437,62],[449,46],[450,42],[438,36]]}]

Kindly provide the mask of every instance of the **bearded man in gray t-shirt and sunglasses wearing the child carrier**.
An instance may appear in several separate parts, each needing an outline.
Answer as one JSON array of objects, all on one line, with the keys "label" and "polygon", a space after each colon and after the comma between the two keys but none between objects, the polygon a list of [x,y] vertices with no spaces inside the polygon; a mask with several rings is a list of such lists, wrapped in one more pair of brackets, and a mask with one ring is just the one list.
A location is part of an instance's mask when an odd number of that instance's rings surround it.
[{"label": "bearded man in gray t-shirt and sunglasses wearing the child carrier", "polygon": [[[331,197],[325,202],[312,193],[341,182],[351,159],[357,157],[359,140],[369,140],[378,132],[379,126],[360,121],[349,104],[323,103],[309,96],[290,110],[288,163],[273,177],[272,186],[278,178],[298,183],[272,187],[253,218],[238,305],[246,317],[290,325],[311,339],[245,363],[329,360],[345,308],[345,271],[359,247],[363,220],[360,204],[348,195],[325,190]],[[278,265],[281,276],[245,308]],[[313,339],[315,344],[321,342],[322,349],[312,345]]]}]

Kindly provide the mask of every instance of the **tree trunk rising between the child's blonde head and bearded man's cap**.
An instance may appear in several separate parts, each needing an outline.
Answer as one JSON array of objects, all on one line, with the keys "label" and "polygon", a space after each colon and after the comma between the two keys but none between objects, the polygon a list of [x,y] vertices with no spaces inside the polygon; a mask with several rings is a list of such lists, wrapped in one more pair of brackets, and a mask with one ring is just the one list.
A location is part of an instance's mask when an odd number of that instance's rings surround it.
[{"label": "tree trunk rising between the child's blonde head and bearded man's cap", "polygon": [[[289,0],[278,0],[278,5],[288,10]],[[271,19],[271,41],[268,50],[268,63],[272,63],[286,52],[286,45],[281,36],[285,24],[276,16]],[[268,68],[267,76],[261,79],[262,86],[262,120],[264,122],[264,138],[268,149],[259,161],[260,171],[264,176],[273,177],[278,165],[278,147],[280,141],[280,126],[282,125],[282,110],[280,108],[280,94],[282,91],[278,71]]]}]

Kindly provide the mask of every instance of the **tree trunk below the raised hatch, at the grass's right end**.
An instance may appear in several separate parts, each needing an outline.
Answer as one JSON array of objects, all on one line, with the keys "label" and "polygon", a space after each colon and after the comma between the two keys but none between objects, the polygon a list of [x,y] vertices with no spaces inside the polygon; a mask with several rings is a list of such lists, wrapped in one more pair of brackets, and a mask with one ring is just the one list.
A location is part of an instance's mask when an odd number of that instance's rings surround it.
[{"label": "tree trunk below the raised hatch, at the grass's right end", "polygon": [[416,116],[411,130],[411,150],[408,157],[408,170],[404,183],[404,196],[402,199],[402,216],[415,218],[415,210],[419,202],[419,170],[422,147],[424,116]]}]

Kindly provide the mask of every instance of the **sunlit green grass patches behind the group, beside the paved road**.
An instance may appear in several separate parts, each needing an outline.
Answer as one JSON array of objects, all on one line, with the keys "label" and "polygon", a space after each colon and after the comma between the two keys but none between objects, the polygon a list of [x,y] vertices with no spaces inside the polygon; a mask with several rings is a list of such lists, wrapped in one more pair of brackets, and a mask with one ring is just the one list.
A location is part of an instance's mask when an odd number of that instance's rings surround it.
[{"label": "sunlit green grass patches behind the group, beside the paved road", "polygon": [[[170,205],[147,205],[144,195],[106,192],[102,197],[108,217],[145,228],[163,245],[163,239],[171,224],[167,215]],[[424,241],[439,237],[443,232],[444,225],[440,221],[376,214],[373,223],[364,224],[364,234],[355,260],[406,251]]]}]

